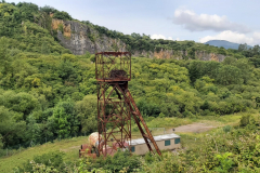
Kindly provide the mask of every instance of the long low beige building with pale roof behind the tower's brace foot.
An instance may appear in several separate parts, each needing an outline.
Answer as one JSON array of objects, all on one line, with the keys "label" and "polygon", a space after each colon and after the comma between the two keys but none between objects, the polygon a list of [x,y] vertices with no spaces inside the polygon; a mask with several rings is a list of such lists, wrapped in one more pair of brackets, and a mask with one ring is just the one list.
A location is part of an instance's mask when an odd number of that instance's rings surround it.
[{"label": "long low beige building with pale roof behind the tower's brace foot", "polygon": [[[154,136],[160,150],[171,150],[181,147],[181,137],[174,133]],[[131,151],[135,155],[145,155],[148,150],[143,138],[132,139],[130,143]],[[151,143],[154,149],[153,144]]]}]

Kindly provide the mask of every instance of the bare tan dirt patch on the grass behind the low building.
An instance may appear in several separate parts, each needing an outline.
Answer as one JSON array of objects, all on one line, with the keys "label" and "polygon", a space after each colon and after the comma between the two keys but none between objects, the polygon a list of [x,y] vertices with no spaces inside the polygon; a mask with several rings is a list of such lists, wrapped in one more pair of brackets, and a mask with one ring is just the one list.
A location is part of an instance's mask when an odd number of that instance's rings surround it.
[{"label": "bare tan dirt patch on the grass behind the low building", "polygon": [[[206,123],[192,123],[192,124],[174,128],[174,132],[202,133],[202,132],[209,131],[213,128],[217,128],[217,127],[208,125]],[[172,129],[169,129],[167,132],[172,133]]]}]

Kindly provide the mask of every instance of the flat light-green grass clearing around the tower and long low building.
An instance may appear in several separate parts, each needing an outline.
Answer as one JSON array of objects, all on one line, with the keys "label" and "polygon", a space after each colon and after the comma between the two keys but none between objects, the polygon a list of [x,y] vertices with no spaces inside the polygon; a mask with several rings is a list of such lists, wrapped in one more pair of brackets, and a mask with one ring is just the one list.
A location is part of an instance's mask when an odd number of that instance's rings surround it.
[{"label": "flat light-green grass clearing around the tower and long low building", "polygon": [[[166,130],[171,128],[177,128],[180,125],[191,124],[194,122],[202,122],[205,124],[219,127],[211,130],[210,132],[203,133],[177,133],[182,137],[182,145],[185,148],[196,147],[199,145],[203,136],[210,133],[213,135],[213,132],[221,130],[224,125],[235,125],[238,124],[239,119],[243,115],[251,114],[252,116],[257,115],[256,110],[250,110],[248,112],[239,112],[229,116],[221,117],[197,117],[197,118],[156,118],[147,122],[148,128],[166,128]],[[140,137],[138,127],[134,124],[132,127],[133,138]],[[154,134],[157,135],[157,134]],[[61,150],[65,152],[65,161],[74,161],[78,158],[78,150],[81,144],[86,144],[88,137],[74,137],[70,139],[62,139],[61,142],[56,141],[55,143],[47,143],[44,145],[31,147],[25,149],[18,154],[15,154],[10,157],[0,158],[0,172],[9,173],[15,167],[21,167],[25,161],[30,160],[34,156],[43,155],[50,151]]]}]

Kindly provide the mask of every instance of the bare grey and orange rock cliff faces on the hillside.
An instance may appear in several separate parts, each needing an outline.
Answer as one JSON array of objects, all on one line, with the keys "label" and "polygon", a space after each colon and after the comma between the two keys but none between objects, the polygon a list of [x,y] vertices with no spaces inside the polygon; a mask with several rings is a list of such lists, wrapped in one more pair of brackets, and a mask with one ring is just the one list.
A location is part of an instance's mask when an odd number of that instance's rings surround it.
[{"label": "bare grey and orange rock cliff faces on the hillside", "polygon": [[[103,51],[126,51],[126,44],[116,39],[100,35],[94,28],[73,21],[53,19],[52,28],[57,30],[61,44],[76,55]],[[133,52],[133,56],[156,58],[188,58],[186,51],[161,50],[159,52]],[[214,53],[196,52],[195,57],[202,61],[223,62],[225,56]]]}]

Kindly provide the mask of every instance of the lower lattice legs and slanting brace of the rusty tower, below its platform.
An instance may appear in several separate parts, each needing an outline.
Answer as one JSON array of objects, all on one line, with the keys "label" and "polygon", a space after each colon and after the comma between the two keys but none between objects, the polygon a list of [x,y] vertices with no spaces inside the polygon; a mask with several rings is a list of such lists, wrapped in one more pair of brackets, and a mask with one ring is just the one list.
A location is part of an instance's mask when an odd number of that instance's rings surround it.
[{"label": "lower lattice legs and slanting brace of the rusty tower, below its platform", "polygon": [[131,116],[150,151],[153,151],[153,145],[160,156],[160,150],[128,90],[127,81],[98,83],[98,128],[104,139],[104,145],[99,145],[100,152],[106,156],[113,155],[118,147],[127,148],[131,141]]}]

